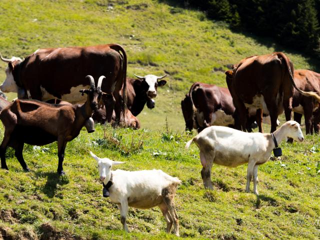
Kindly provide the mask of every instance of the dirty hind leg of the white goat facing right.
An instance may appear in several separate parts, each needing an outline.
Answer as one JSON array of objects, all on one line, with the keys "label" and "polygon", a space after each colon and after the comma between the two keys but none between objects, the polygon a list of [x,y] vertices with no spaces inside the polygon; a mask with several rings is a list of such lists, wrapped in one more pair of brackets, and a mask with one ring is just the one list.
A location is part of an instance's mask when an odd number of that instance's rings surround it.
[{"label": "dirty hind leg of the white goat facing right", "polygon": [[202,164],[201,177],[203,181],[204,188],[213,189],[211,182],[211,167],[213,164],[213,159],[215,157],[214,150],[209,150],[204,152],[200,150],[200,161]]}]

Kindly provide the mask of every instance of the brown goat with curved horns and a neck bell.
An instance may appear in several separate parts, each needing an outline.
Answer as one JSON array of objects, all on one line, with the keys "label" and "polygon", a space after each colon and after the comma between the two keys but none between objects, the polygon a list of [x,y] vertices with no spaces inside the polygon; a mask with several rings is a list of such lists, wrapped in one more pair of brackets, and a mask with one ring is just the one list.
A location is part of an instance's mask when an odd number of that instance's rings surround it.
[{"label": "brown goat with curved horns and a neck bell", "polygon": [[[14,148],[14,155],[24,170],[28,171],[22,150],[24,143],[31,145],[45,145],[57,141],[59,175],[64,175],[62,162],[66,143],[75,138],[84,124],[89,120],[92,111],[97,109],[101,98],[101,83],[104,76],[100,76],[97,87],[92,76],[89,89],[80,92],[87,94],[83,104],[59,105],[49,104],[37,100],[16,99],[0,112],[0,120],[4,125],[4,137],[0,145],[1,168],[8,169],[5,162],[7,146]],[[92,119],[91,119],[92,120]]]}]

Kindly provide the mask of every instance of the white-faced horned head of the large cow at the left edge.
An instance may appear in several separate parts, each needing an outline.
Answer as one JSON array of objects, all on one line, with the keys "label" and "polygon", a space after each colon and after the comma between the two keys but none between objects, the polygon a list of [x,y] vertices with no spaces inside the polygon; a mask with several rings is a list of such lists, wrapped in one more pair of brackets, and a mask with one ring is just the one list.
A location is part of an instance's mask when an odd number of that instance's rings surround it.
[{"label": "white-faced horned head of the large cow at the left edge", "polygon": [[1,91],[4,92],[18,92],[18,85],[13,78],[13,69],[19,62],[23,61],[20,57],[12,56],[11,59],[7,59],[1,56],[0,59],[8,63],[7,68],[5,69],[6,78],[3,83],[0,85]]}]

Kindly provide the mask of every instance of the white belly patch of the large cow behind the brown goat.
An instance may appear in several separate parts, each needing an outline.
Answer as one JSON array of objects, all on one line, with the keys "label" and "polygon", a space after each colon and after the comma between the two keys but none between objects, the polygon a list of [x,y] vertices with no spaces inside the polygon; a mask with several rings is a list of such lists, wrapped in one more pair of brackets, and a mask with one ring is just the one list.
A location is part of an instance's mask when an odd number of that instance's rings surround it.
[{"label": "white belly patch of the large cow behind the brown goat", "polygon": [[[83,86],[83,85],[78,85],[78,86],[72,86],[70,89],[70,93],[66,93],[61,95],[60,100],[62,101],[68,101],[72,104],[75,103],[81,103],[81,102],[85,102],[86,100],[86,94],[84,94],[82,96],[81,92],[79,92],[79,90],[81,89],[88,89],[90,88],[89,85]],[[41,89],[41,93],[42,93],[42,101],[46,101],[52,98],[56,98],[55,96],[53,96],[52,94],[50,94],[47,90],[45,90],[44,87],[42,87],[40,85],[40,89]]]}]

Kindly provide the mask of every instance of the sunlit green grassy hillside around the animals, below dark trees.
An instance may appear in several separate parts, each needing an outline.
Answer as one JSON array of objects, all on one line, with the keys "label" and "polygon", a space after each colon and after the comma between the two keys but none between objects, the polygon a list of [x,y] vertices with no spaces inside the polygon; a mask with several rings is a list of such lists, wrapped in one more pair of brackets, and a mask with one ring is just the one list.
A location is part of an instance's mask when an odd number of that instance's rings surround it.
[{"label": "sunlit green grassy hillside around the animals, below dark trees", "polygon": [[[320,237],[319,136],[307,136],[303,144],[281,144],[283,156],[259,167],[258,198],[244,192],[246,165],[214,165],[214,190],[207,191],[202,186],[197,147],[184,149],[191,136],[182,133],[180,110],[192,82],[225,86],[224,70],[245,56],[285,51],[295,68],[316,70],[314,59],[268,39],[232,32],[225,23],[209,21],[199,11],[156,0],[0,0],[0,17],[0,52],[5,57],[26,56],[40,47],[117,42],[127,51],[128,76],[169,73],[167,85],[158,89],[155,108],[138,115],[144,129],[98,125],[92,134],[83,129],[67,144],[66,176],[55,173],[56,143],[25,146],[28,173],[8,149],[10,170],[0,169],[0,239],[1,235],[8,239],[175,238],[165,234],[165,221],[157,208],[130,208],[131,233],[121,231],[119,211],[102,197],[96,163],[88,150],[126,161],[121,169],[160,168],[179,177],[183,183],[176,205],[182,237]],[[5,78],[5,67],[0,62],[0,79]]]}]

